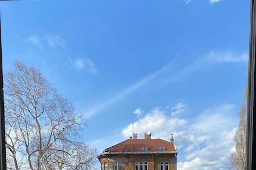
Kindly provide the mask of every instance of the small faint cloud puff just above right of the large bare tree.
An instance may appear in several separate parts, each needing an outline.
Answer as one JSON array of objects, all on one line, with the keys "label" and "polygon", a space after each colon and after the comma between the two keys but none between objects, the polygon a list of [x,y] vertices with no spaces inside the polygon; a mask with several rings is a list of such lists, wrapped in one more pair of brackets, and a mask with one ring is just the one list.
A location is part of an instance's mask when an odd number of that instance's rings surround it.
[{"label": "small faint cloud puff just above right of the large bare tree", "polygon": [[75,69],[79,71],[86,70],[88,73],[91,74],[97,73],[95,64],[89,58],[76,58],[73,62],[69,58],[69,61],[72,63]]}]

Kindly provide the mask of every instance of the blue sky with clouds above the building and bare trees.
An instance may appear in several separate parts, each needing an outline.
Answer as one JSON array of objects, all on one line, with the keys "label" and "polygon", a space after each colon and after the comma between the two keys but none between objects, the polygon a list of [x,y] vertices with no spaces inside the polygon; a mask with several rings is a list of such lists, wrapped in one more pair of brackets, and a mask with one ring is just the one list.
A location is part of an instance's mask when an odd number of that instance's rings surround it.
[{"label": "blue sky with clouds above the building and bare trees", "polygon": [[[0,2],[3,69],[40,69],[98,152],[134,133],[177,146],[177,169],[228,169],[244,103],[250,1]],[[133,128],[134,127],[134,128]]]}]

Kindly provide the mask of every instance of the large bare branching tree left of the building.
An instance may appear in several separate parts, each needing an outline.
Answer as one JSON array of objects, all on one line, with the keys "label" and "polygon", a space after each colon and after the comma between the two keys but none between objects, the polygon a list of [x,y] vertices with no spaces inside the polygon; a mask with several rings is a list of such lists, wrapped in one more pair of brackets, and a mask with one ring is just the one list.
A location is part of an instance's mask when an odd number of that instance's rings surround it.
[{"label": "large bare branching tree left of the building", "polygon": [[79,140],[84,119],[39,70],[18,61],[4,80],[9,169],[79,169],[94,164],[96,150]]}]

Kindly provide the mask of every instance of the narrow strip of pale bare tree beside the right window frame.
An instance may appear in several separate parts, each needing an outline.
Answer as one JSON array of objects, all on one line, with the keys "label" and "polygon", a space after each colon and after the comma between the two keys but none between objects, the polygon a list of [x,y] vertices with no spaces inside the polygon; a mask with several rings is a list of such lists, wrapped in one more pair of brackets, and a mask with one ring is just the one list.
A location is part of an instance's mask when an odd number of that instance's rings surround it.
[{"label": "narrow strip of pale bare tree beside the right window frame", "polygon": [[245,103],[241,105],[239,125],[234,135],[236,151],[230,155],[230,162],[234,169],[246,169],[246,115],[247,115],[247,88],[245,90]]}]

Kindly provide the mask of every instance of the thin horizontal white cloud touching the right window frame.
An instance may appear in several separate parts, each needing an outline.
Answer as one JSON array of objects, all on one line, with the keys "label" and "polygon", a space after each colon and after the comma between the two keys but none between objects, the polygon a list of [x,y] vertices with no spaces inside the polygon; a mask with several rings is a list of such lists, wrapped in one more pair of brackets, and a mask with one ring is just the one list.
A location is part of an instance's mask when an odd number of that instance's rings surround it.
[{"label": "thin horizontal white cloud touching the right window frame", "polygon": [[213,62],[213,63],[220,63],[220,62],[247,62],[248,61],[248,54],[240,54],[235,55],[231,52],[218,52],[212,51],[207,54],[206,61]]}]

